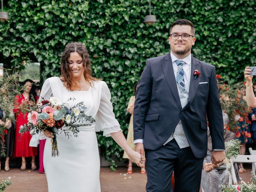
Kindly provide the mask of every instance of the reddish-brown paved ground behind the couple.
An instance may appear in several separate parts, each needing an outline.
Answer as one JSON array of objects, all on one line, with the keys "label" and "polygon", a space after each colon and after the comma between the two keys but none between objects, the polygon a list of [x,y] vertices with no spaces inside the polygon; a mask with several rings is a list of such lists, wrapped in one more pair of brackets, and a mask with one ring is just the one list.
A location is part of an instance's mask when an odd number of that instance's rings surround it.
[{"label": "reddish-brown paved ground behind the couple", "polygon": [[[247,172],[240,174],[245,181],[250,181],[251,166],[245,167]],[[133,174],[126,174],[126,167],[119,167],[112,172],[108,167],[100,168],[100,184],[102,192],[145,192],[147,177],[140,174],[139,168],[134,168]],[[47,192],[47,182],[44,174],[36,171],[20,171],[12,168],[9,172],[1,170],[0,180],[11,176],[12,185],[6,192]],[[125,179],[126,178],[126,179]]]}]

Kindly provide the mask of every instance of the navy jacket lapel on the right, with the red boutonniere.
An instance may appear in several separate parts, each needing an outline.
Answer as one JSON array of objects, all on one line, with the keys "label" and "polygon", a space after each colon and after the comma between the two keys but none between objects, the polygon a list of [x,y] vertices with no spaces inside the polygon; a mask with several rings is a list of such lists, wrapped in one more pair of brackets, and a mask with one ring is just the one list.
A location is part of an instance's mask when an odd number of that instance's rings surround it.
[{"label": "navy jacket lapel on the right, with the red boutonniere", "polygon": [[199,86],[200,78],[201,78],[201,75],[200,75],[196,79],[194,79],[195,78],[195,76],[194,76],[195,70],[198,70],[199,72],[201,72],[201,64],[198,63],[198,61],[194,57],[191,57],[190,88],[189,88],[189,96],[188,96],[188,104],[189,105],[194,100],[197,88]]}]

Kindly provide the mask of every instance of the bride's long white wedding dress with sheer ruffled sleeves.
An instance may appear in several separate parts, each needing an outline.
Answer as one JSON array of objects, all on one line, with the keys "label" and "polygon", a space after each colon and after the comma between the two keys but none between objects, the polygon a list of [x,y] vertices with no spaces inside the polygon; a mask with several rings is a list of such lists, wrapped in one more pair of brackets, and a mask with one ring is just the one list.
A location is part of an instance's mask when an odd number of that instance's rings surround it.
[{"label": "bride's long white wedding dress with sheer ruffled sleeves", "polygon": [[[80,126],[78,137],[66,137],[64,132],[57,135],[59,156],[52,157],[52,143],[47,138],[44,148],[44,170],[48,192],[100,192],[100,157],[96,131],[104,136],[120,131],[115,119],[110,91],[103,81],[94,81],[88,91],[69,91],[60,78],[48,78],[42,87],[40,101],[51,95],[62,102],[68,98],[68,105],[84,101],[86,115],[96,120],[91,126]],[[81,123],[82,124],[82,123]],[[40,139],[46,138],[40,134]]]}]

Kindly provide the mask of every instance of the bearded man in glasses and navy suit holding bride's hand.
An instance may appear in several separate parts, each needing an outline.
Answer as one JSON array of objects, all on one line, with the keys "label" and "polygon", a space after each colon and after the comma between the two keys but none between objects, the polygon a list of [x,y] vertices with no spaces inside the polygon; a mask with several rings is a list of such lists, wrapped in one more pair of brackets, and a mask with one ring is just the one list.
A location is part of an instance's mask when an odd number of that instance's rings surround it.
[{"label": "bearded man in glasses and navy suit holding bride's hand", "polygon": [[[150,58],[142,72],[134,106],[136,151],[146,154],[147,192],[198,192],[207,151],[212,163],[225,159],[223,118],[215,67],[191,56],[196,38],[192,22],[170,27],[171,52]],[[195,74],[195,75],[194,75]]]}]

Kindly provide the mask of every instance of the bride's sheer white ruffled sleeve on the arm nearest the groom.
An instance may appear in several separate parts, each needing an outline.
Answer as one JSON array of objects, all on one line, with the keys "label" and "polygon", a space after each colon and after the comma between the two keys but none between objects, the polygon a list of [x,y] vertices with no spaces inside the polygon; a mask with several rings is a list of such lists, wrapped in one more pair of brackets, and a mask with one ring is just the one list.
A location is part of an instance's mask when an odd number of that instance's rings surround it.
[{"label": "bride's sheer white ruffled sleeve on the arm nearest the groom", "polygon": [[110,136],[110,133],[121,130],[120,124],[115,118],[110,99],[110,90],[108,89],[107,84],[102,81],[100,106],[96,114],[96,130],[102,130],[104,136]]}]

